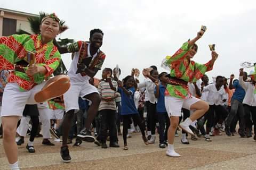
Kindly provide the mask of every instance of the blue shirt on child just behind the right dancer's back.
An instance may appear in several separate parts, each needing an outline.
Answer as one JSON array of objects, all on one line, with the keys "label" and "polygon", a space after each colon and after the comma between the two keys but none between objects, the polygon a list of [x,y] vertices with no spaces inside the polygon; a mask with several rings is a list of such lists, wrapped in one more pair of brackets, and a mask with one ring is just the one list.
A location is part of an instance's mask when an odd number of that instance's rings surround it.
[{"label": "blue shirt on child just behind the right dancer's back", "polygon": [[[164,92],[166,87],[162,84],[159,84],[159,96],[157,98],[157,105],[156,105],[156,112],[157,113],[166,113],[166,108],[164,104]],[[156,88],[154,90],[154,93],[156,94]]]}]

